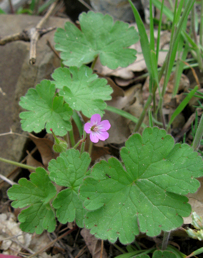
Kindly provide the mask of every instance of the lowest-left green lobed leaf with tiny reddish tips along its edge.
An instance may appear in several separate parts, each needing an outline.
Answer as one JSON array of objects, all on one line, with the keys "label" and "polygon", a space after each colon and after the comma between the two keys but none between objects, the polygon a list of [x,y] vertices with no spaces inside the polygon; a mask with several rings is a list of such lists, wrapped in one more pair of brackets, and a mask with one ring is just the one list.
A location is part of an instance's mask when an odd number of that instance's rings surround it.
[{"label": "lowest-left green lobed leaf with tiny reddish tips along its edge", "polygon": [[55,214],[49,204],[56,195],[56,188],[42,167],[30,174],[30,181],[21,178],[18,185],[9,188],[7,194],[13,208],[24,208],[18,215],[20,228],[25,232],[42,234],[44,229],[53,232],[56,226]]}]

